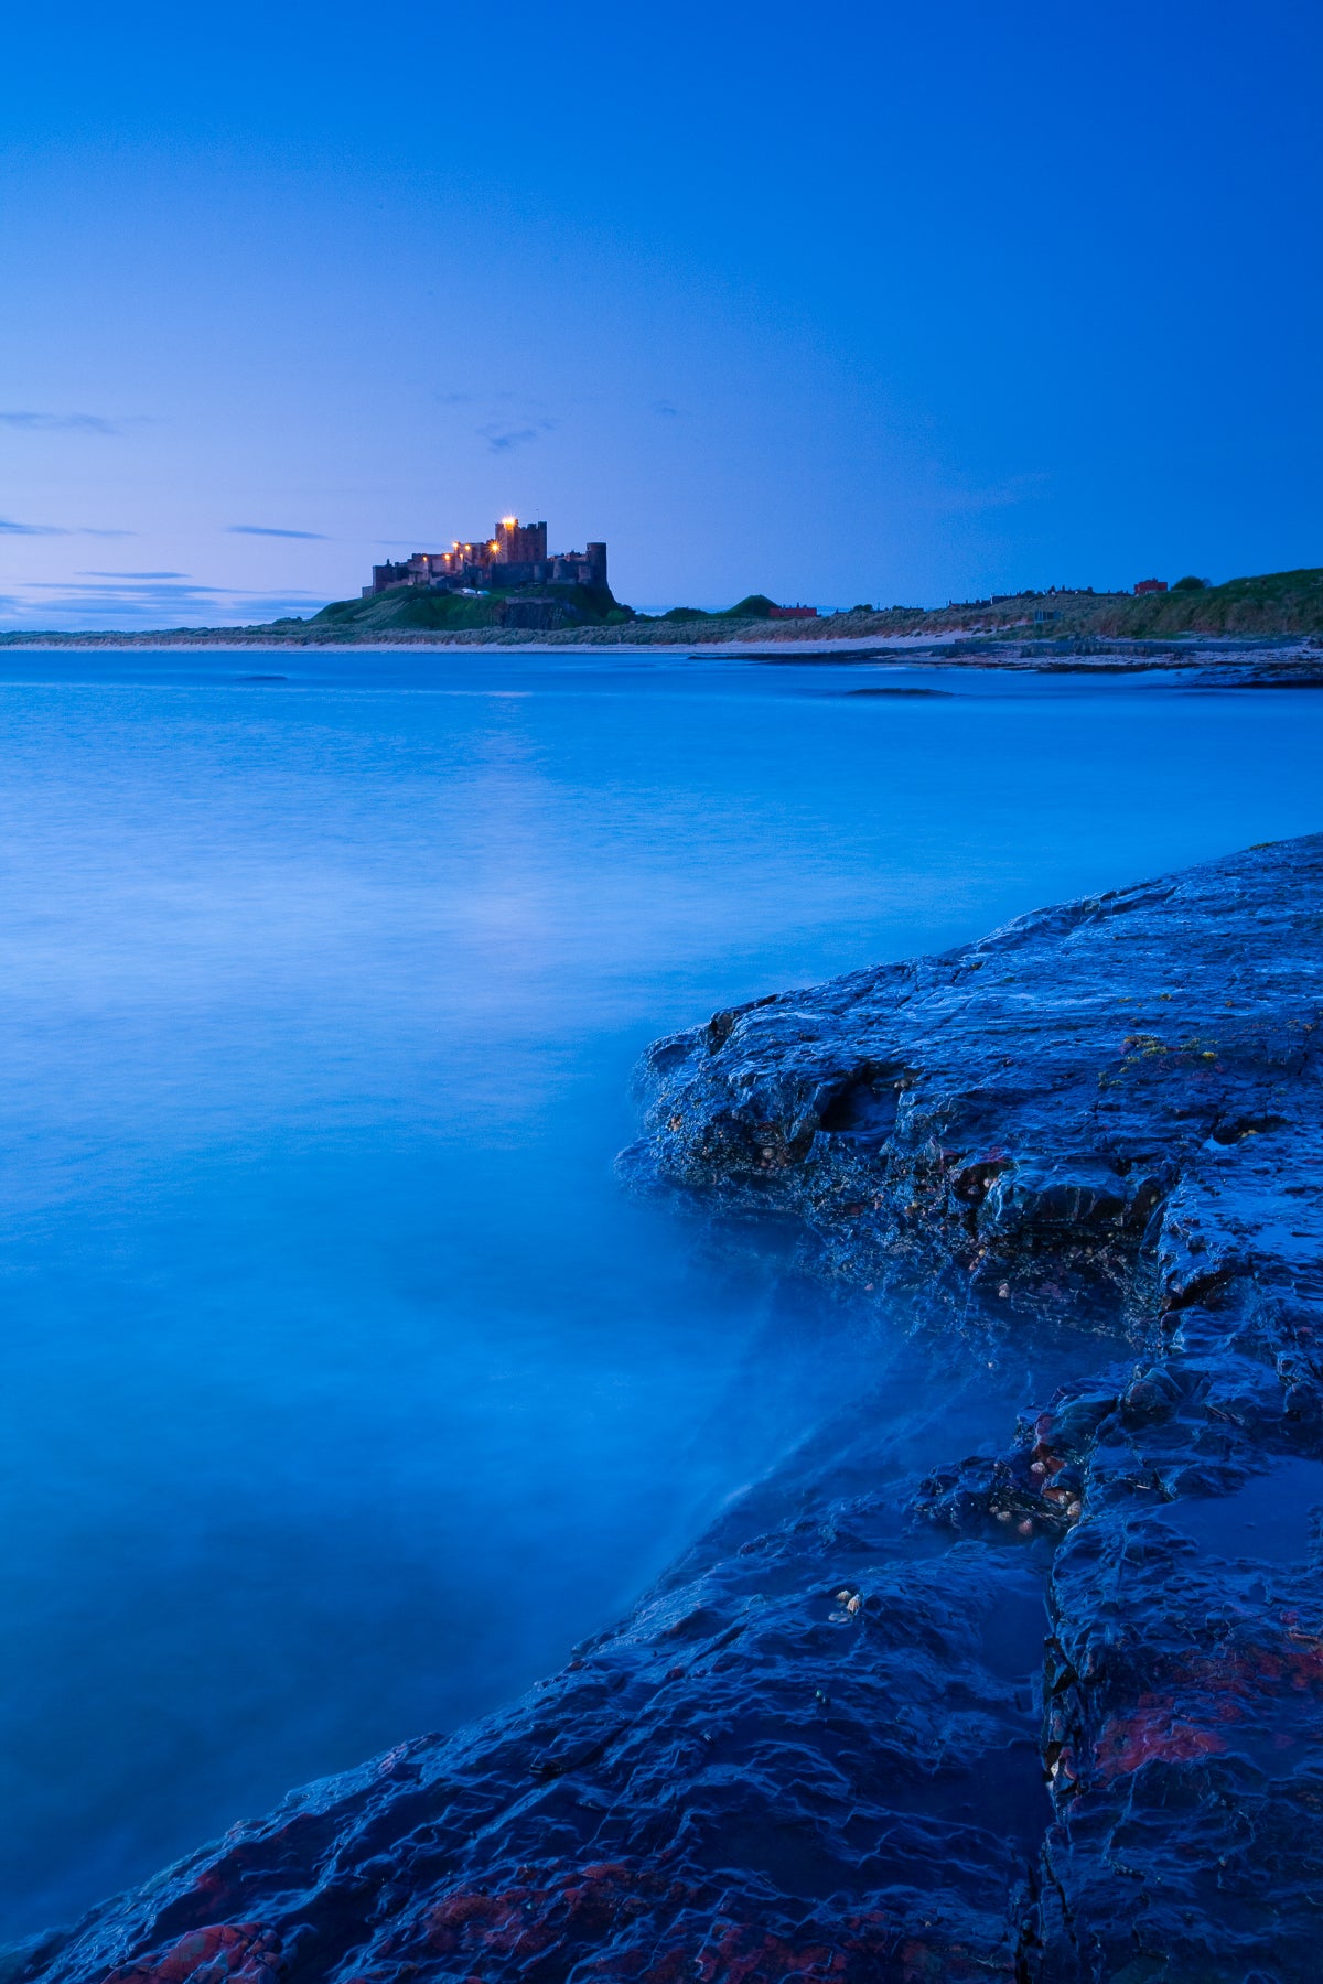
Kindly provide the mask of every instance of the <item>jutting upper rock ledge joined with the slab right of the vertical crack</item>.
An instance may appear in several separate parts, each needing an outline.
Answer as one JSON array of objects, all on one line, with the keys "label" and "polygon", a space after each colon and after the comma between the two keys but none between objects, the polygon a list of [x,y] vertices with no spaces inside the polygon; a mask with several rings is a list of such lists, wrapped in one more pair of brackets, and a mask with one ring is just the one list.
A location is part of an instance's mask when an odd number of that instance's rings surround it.
[{"label": "jutting upper rock ledge joined with the slab right of the vertical crack", "polygon": [[1313,837],[649,1055],[635,1173],[795,1214],[809,1266],[928,1329],[1135,1341],[914,1502],[1051,1553],[1025,1974],[1317,1968],[1321,1006]]}]

